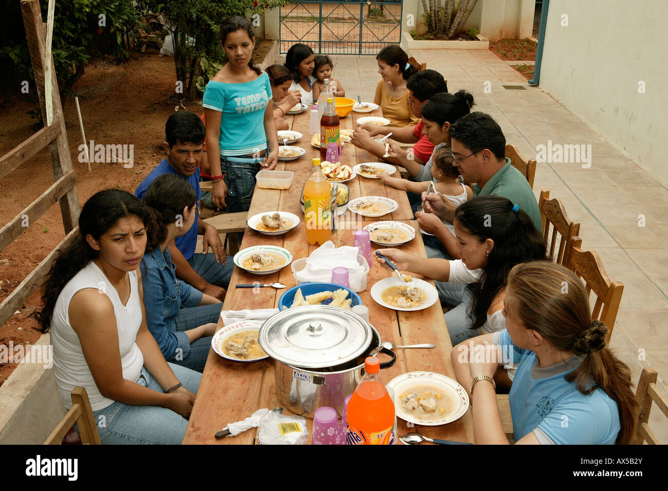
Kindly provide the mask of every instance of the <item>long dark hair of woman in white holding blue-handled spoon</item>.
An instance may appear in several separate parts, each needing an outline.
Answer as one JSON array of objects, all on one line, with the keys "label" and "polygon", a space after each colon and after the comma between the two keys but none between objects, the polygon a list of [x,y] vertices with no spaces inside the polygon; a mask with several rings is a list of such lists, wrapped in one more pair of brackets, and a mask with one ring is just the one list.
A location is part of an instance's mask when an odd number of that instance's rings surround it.
[{"label": "long dark hair of woman in white holding blue-handled spoon", "polygon": [[494,240],[482,278],[476,283],[469,315],[472,329],[487,321],[496,295],[506,286],[508,273],[520,263],[546,259],[542,236],[523,210],[513,211],[513,204],[502,196],[478,196],[461,204],[455,220],[480,242]]}]

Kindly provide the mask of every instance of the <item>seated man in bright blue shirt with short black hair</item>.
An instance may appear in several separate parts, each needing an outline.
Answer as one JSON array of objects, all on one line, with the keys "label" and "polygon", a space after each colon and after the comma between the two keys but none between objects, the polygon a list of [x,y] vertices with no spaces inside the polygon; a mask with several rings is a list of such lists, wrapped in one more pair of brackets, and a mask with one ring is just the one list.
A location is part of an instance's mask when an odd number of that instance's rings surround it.
[{"label": "seated man in bright blue shirt with short black hair", "polygon": [[[144,198],[146,189],[162,174],[177,174],[187,180],[197,193],[197,213],[190,230],[177,237],[168,245],[172,262],[176,265],[176,276],[202,293],[216,297],[221,301],[225,289],[230,283],[234,265],[226,261],[226,252],[220,242],[216,228],[199,219],[200,198],[200,160],[204,144],[204,124],[192,112],[175,112],[165,124],[165,138],[162,146],[167,157],[146,176],[134,195]],[[202,235],[204,253],[195,254],[197,236]],[[208,248],[213,254],[207,254]]]}]

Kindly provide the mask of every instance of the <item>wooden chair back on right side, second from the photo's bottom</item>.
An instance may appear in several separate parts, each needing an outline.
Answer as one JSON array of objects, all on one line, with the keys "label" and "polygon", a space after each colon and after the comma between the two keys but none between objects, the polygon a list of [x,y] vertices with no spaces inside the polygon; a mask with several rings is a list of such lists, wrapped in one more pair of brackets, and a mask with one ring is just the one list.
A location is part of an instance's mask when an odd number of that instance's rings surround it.
[{"label": "wooden chair back on right side, second from the photo's bottom", "polygon": [[576,275],[585,280],[587,295],[594,291],[597,299],[591,315],[592,319],[599,319],[610,329],[605,337],[605,342],[610,343],[610,337],[615,327],[619,303],[622,299],[624,285],[621,281],[611,281],[603,268],[601,257],[593,251],[582,251],[580,245],[582,239],[573,237],[572,253],[570,254],[570,265],[568,268]]}]

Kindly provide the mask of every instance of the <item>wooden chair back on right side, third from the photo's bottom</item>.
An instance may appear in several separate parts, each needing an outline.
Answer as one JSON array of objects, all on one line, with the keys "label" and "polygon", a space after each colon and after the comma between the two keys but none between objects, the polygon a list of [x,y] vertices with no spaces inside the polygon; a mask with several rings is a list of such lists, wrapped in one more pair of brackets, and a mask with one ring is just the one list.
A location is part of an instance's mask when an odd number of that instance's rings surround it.
[{"label": "wooden chair back on right side, third from the photo's bottom", "polygon": [[[580,233],[580,222],[571,222],[562,202],[556,198],[550,200],[550,192],[542,190],[538,199],[540,220],[542,222],[543,244],[558,265],[568,267],[573,249],[573,238]],[[552,238],[550,240],[550,225]],[[556,253],[556,236],[560,235],[559,251]]]}]

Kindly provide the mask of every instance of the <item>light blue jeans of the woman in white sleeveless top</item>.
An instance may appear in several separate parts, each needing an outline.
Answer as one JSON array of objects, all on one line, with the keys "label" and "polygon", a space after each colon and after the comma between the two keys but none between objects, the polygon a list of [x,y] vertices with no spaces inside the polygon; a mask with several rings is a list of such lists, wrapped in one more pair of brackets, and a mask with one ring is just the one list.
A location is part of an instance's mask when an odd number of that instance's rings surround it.
[{"label": "light blue jeans of the woman in white sleeveless top", "polygon": [[[201,373],[169,363],[176,378],[186,389],[197,393]],[[162,387],[145,367],[138,384],[162,392]],[[186,435],[188,421],[166,407],[154,405],[126,405],[114,402],[94,411],[102,444],[180,445]]]}]

